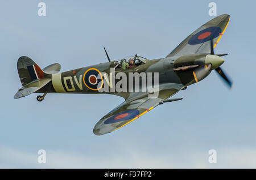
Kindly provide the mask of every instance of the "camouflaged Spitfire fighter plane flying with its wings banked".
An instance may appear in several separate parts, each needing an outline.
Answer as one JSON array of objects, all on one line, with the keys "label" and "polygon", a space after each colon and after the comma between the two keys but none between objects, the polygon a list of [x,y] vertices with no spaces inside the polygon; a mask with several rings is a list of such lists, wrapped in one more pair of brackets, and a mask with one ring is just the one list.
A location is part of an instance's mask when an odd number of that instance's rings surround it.
[{"label": "camouflaged Spitfire fighter plane flying with its wings banked", "polygon": [[[104,48],[109,62],[59,72],[61,67],[59,63],[49,65],[42,70],[32,59],[20,57],[17,66],[23,87],[18,90],[14,98],[24,97],[34,92],[43,93],[43,96],[37,97],[38,101],[44,100],[47,93],[108,93],[121,96],[125,101],[102,117],[93,128],[96,135],[115,131],[160,104],[181,100],[182,98],[170,99],[170,97],[186,89],[188,85],[203,80],[212,70],[215,70],[231,88],[232,81],[220,67],[224,63],[222,56],[227,54],[214,54],[213,51],[228,23],[229,15],[217,16],[196,29],[165,58],[159,59],[149,60],[134,55],[110,61]],[[148,95],[151,95],[152,91],[111,91],[115,85],[118,83],[120,85],[118,78],[112,80],[112,76],[120,72],[123,77],[127,75],[127,82],[131,79],[128,75],[130,72],[138,72],[138,74],[145,72],[146,77],[149,73],[158,74],[158,80],[152,80],[152,82],[158,81],[158,84],[154,84],[154,87],[158,87],[158,96],[150,98]],[[125,79],[123,77],[122,80]],[[121,81],[120,77],[119,80]],[[142,89],[141,83],[134,86]],[[127,88],[127,85],[123,83],[120,87]],[[109,88],[110,91],[100,91],[104,88]]]}]

